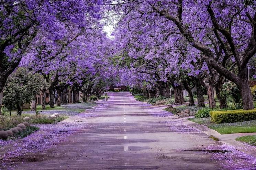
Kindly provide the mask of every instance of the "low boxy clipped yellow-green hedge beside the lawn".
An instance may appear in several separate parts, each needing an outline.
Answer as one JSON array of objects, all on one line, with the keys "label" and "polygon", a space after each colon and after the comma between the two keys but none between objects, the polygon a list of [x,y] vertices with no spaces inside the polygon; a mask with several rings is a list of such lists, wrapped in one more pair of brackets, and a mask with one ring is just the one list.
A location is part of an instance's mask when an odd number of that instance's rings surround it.
[{"label": "low boxy clipped yellow-green hedge beside the lawn", "polygon": [[256,120],[256,109],[253,110],[223,110],[210,112],[211,120],[215,123],[233,123]]}]

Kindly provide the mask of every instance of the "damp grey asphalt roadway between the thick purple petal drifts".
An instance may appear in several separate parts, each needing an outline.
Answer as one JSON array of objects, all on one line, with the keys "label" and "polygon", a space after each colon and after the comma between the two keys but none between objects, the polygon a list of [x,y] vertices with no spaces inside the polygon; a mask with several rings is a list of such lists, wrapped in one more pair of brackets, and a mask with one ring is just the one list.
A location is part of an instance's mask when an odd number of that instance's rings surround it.
[{"label": "damp grey asphalt roadway between the thick purple petal drifts", "polygon": [[214,154],[229,151],[205,149],[221,146],[219,141],[182,121],[155,116],[166,112],[135,101],[127,92],[108,95],[109,101],[88,113],[90,117],[72,119],[84,125],[79,130],[44,152],[25,153],[22,160],[15,160],[13,169],[225,169],[221,166],[225,160],[214,159]]}]

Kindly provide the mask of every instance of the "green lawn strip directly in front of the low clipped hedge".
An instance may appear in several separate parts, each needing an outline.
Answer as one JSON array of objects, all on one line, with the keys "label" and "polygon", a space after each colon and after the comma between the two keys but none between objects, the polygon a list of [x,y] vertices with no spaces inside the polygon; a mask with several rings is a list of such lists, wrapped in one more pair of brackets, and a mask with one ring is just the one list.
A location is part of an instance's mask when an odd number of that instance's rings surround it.
[{"label": "green lawn strip directly in front of the low clipped hedge", "polygon": [[211,118],[189,118],[188,120],[207,126],[220,134],[256,132],[256,120],[220,124],[211,122]]}]

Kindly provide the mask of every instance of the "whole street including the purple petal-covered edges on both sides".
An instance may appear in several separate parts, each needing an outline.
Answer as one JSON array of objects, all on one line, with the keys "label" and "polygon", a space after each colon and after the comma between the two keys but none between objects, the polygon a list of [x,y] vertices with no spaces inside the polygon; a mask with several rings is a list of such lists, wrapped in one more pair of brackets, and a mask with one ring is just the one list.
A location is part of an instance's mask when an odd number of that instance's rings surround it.
[{"label": "whole street including the purple petal-covered edges on both sides", "polygon": [[9,142],[13,147],[1,169],[256,169],[255,157],[161,107],[135,101],[128,92],[109,95],[87,113]]}]

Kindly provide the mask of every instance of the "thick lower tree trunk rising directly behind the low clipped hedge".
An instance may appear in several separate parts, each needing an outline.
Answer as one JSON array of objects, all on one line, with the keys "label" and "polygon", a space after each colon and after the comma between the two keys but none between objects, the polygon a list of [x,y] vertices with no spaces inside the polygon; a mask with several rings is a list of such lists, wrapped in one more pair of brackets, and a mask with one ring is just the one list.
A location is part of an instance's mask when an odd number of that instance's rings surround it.
[{"label": "thick lower tree trunk rising directly behind the low clipped hedge", "polygon": [[249,86],[247,77],[244,80],[242,80],[242,82],[239,83],[237,87],[240,90],[240,93],[242,95],[243,109],[244,110],[254,109],[252,92],[251,92],[251,88]]}]

